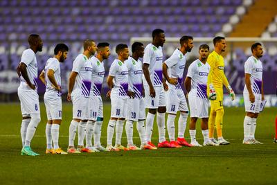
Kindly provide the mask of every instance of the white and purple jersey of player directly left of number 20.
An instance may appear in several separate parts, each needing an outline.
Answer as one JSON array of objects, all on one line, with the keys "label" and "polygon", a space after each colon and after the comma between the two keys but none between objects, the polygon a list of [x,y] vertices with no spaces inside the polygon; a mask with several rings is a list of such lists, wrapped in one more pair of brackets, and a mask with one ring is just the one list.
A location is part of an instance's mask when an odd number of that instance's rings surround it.
[{"label": "white and purple jersey of player directly left of number 20", "polygon": [[116,59],[109,68],[109,76],[114,76],[114,87],[111,91],[118,96],[126,97],[128,91],[128,68],[125,63]]}]

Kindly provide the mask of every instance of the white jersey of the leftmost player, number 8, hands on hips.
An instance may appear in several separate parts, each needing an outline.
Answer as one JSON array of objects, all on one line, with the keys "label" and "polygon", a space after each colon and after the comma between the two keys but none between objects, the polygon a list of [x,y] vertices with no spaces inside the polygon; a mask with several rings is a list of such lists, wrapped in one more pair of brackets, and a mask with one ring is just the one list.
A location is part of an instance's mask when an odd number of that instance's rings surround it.
[{"label": "white jersey of the leftmost player, number 8, hands on hips", "polygon": [[[35,57],[35,52],[32,49],[26,49],[25,51],[23,51],[21,56],[21,63],[26,64],[26,70],[30,82],[35,85],[35,89],[37,91],[37,58]],[[20,89],[30,89],[30,87],[26,83],[26,80],[24,80],[22,76],[20,76],[20,80]]]}]

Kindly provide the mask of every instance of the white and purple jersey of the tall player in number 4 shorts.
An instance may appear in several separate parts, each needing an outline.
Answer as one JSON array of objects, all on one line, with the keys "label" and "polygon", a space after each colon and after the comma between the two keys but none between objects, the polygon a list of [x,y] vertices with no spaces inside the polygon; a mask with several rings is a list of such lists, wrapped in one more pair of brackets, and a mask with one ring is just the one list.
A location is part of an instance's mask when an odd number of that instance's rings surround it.
[{"label": "white and purple jersey of the tall player in number 4 shorts", "polygon": [[[143,64],[149,64],[149,73],[152,85],[161,87],[163,82],[163,49],[153,44],[148,44],[144,49]],[[143,76],[143,84],[148,85]]]}]

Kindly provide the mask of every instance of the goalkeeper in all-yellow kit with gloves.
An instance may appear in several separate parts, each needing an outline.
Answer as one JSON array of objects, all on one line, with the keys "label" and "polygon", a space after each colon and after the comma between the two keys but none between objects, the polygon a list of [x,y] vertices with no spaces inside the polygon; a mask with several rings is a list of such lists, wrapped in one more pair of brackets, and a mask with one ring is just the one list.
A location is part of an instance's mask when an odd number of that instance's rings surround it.
[{"label": "goalkeeper in all-yellow kit with gloves", "polygon": [[[226,141],[222,136],[222,122],[223,122],[223,85],[229,90],[232,100],[235,99],[235,93],[224,74],[224,58],[222,53],[226,48],[226,40],[224,37],[215,37],[213,39],[215,50],[208,56],[208,64],[211,67],[211,72],[208,75],[208,80],[213,81],[214,90],[216,91],[216,100],[211,101],[211,113],[208,119],[209,138],[214,143],[220,145],[228,145],[230,142]],[[208,91],[210,91],[208,87]],[[213,89],[212,89],[213,90]],[[214,139],[214,130],[217,130],[217,140]]]}]

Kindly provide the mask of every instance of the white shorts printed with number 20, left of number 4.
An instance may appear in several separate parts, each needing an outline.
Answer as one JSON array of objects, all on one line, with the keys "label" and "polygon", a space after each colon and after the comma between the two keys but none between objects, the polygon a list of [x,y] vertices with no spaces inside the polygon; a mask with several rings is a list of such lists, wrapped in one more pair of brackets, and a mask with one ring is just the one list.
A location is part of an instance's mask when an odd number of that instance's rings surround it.
[{"label": "white shorts printed with number 20, left of number 4", "polygon": [[143,98],[127,99],[126,119],[132,121],[145,119],[145,103]]}]

